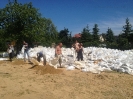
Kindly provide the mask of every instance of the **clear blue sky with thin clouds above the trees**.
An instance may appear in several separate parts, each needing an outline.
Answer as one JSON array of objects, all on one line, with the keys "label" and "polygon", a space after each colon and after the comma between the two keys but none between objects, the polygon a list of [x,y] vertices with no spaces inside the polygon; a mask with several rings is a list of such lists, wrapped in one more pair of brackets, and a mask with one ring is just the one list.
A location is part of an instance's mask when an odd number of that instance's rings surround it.
[{"label": "clear blue sky with thin clouds above the trees", "polygon": [[[10,0],[14,1],[14,0]],[[98,24],[99,34],[111,28],[114,35],[122,33],[129,18],[133,26],[133,0],[18,0],[19,3],[32,2],[42,17],[49,18],[57,30],[67,28],[72,35],[81,33],[89,26],[90,32]],[[8,0],[0,0],[4,8]]]}]

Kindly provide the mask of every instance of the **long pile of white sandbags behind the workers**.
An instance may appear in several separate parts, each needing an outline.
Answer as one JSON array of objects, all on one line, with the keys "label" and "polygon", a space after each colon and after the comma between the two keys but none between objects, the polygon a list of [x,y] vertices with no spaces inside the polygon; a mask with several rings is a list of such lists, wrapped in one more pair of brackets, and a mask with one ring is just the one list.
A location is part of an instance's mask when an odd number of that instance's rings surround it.
[{"label": "long pile of white sandbags behind the workers", "polygon": [[[29,50],[30,57],[36,57],[39,51],[45,51],[46,60],[51,66],[59,66],[55,59],[55,49],[50,47],[36,47]],[[117,49],[87,47],[84,48],[84,61],[76,61],[73,48],[62,48],[62,65],[67,70],[80,69],[84,72],[100,73],[115,70],[133,75],[133,50],[121,51]],[[23,58],[23,51],[17,55]]]}]

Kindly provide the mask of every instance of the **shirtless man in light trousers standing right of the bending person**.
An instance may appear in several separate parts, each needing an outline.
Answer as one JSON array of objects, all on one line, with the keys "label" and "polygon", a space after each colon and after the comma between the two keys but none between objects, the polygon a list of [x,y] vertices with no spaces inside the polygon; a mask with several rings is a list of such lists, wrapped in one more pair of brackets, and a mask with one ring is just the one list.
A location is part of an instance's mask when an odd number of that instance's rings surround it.
[{"label": "shirtless man in light trousers standing right of the bending person", "polygon": [[56,48],[55,48],[55,57],[58,58],[58,61],[59,61],[59,64],[60,64],[60,67],[61,67],[61,63],[62,63],[62,59],[61,59],[61,56],[62,56],[62,43],[59,43]]}]

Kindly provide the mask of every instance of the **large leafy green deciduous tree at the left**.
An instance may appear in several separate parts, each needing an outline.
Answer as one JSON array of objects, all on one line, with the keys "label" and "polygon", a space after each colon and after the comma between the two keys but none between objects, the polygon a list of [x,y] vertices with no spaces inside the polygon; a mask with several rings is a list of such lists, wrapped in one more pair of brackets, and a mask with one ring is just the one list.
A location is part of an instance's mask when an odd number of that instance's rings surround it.
[{"label": "large leafy green deciduous tree at the left", "polygon": [[52,21],[41,17],[32,3],[21,4],[17,0],[9,1],[5,8],[0,10],[0,28],[3,31],[2,37],[10,41],[15,40],[17,51],[21,49],[23,40],[29,42],[31,46],[33,42],[45,42],[46,33],[51,33],[51,39],[58,39]]}]

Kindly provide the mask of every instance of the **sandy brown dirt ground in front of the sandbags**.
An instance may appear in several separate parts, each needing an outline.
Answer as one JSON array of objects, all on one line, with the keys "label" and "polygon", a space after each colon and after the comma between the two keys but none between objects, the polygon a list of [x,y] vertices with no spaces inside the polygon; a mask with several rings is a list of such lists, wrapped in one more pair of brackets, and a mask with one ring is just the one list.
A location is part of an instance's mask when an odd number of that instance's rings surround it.
[{"label": "sandy brown dirt ground in front of the sandbags", "polygon": [[0,99],[133,99],[133,76],[0,61]]}]

